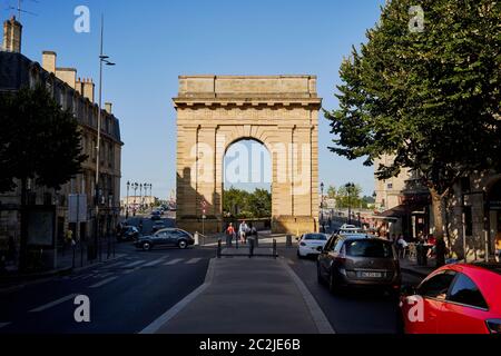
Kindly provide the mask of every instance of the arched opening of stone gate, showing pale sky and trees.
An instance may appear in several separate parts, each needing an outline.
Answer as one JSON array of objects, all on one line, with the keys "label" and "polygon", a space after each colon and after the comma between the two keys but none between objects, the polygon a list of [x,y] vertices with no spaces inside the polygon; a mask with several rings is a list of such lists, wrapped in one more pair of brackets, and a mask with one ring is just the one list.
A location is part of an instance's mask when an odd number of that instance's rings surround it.
[{"label": "arched opening of stone gate, showing pale sky and trees", "polygon": [[246,221],[256,230],[271,229],[273,211],[272,155],[252,138],[232,142],[223,158],[224,228]]}]

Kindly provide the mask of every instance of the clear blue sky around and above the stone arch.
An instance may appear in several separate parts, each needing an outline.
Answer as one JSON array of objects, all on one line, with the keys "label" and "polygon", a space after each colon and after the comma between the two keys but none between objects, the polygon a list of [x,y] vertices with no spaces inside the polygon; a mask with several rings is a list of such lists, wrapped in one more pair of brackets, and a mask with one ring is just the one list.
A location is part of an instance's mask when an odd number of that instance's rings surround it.
[{"label": "clear blue sky around and above the stone arch", "polygon": [[[17,0],[0,0],[2,18]],[[166,198],[176,179],[176,112],[179,75],[318,76],[324,108],[336,108],[341,60],[365,41],[384,0],[24,0],[23,53],[41,61],[58,53],[59,67],[98,78],[99,21],[106,17],[105,52],[117,67],[105,72],[104,100],[114,102],[125,142],[127,180],[151,182]],[[73,31],[77,6],[91,14],[90,33]],[[320,178],[325,185],[360,184],[374,190],[373,168],[331,154],[328,122],[320,117]]]}]

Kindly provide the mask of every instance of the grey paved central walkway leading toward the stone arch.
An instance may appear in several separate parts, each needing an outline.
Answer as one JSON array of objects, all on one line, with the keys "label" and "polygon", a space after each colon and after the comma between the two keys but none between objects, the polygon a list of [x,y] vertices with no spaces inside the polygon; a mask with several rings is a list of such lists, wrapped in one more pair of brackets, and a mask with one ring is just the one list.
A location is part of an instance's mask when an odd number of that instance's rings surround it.
[{"label": "grey paved central walkway leading toward the stone arch", "polygon": [[282,260],[212,259],[206,281],[141,334],[333,334]]}]

